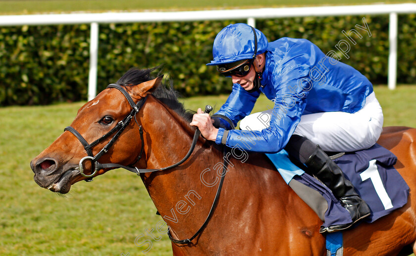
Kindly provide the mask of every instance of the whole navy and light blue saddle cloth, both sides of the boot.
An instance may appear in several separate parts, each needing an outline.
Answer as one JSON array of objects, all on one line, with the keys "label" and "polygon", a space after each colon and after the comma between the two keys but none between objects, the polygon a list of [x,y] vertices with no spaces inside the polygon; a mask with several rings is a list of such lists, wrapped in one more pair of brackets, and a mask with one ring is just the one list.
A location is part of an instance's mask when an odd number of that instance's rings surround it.
[{"label": "whole navy and light blue saddle cloth, both sides of the boot", "polygon": [[[352,221],[349,213],[340,205],[332,192],[290,162],[286,151],[266,155],[286,183],[296,179],[315,189],[326,199],[328,210],[322,226],[328,227]],[[393,153],[378,144],[368,149],[347,153],[334,160],[368,204],[371,215],[365,219],[367,222],[373,222],[407,203],[409,186],[393,167],[396,161],[397,157]]]}]

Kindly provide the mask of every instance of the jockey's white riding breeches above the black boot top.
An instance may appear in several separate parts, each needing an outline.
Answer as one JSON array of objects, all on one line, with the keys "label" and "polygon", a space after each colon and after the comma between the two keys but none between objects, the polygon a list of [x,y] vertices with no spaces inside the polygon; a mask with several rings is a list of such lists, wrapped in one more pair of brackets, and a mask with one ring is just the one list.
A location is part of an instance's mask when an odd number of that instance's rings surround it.
[{"label": "jockey's white riding breeches above the black boot top", "polygon": [[[268,115],[268,119],[264,118]],[[266,124],[260,120],[268,120]],[[241,120],[240,127],[262,130],[269,125],[271,110],[251,114]],[[322,112],[301,116],[293,134],[304,136],[324,151],[351,152],[374,145],[383,127],[383,112],[374,92],[365,99],[356,113]]]}]

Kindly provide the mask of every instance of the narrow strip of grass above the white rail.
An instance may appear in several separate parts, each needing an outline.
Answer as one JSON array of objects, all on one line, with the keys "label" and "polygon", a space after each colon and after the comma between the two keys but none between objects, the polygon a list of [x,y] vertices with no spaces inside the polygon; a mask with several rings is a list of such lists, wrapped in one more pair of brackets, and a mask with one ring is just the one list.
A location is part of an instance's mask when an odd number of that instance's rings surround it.
[{"label": "narrow strip of grass above the white rail", "polygon": [[[345,5],[379,3],[380,0],[0,0],[1,14],[24,14],[71,11],[143,11],[143,10],[196,10],[216,8],[259,8],[281,6]],[[386,0],[384,3],[411,2]]]}]

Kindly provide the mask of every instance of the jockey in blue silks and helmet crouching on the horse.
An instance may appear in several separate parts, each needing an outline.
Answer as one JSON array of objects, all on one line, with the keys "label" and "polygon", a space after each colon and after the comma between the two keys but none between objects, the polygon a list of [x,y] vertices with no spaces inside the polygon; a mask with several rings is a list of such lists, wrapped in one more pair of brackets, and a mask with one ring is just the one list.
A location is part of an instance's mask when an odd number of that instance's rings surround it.
[{"label": "jockey in blue silks and helmet crouching on the horse", "polygon": [[[243,130],[224,129],[230,127],[220,119],[215,119],[214,126],[201,109],[191,125],[217,144],[238,144],[241,149],[264,153],[285,149],[304,164],[352,218],[351,223],[321,227],[319,232],[343,230],[368,216],[367,204],[324,152],[366,149],[379,138],[383,113],[368,79],[339,62],[335,51],[325,55],[306,39],[268,43],[262,32],[242,23],[218,33],[212,54],[207,65],[217,66],[233,82],[231,94],[216,114],[228,117],[234,125],[241,120]],[[250,115],[261,92],[274,107]]]}]

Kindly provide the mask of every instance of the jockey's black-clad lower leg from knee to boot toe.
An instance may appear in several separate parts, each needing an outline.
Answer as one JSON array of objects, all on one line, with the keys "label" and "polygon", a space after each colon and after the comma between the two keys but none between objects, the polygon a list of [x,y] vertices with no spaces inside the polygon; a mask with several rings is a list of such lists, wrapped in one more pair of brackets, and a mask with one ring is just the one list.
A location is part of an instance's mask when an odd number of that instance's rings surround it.
[{"label": "jockey's black-clad lower leg from knee to boot toe", "polygon": [[289,155],[305,164],[308,172],[320,179],[351,215],[353,222],[327,228],[321,227],[320,233],[347,229],[370,214],[368,205],[354,190],[351,181],[345,178],[341,169],[318,145],[305,137],[292,135],[285,149]]}]

